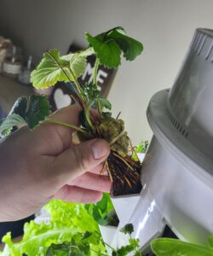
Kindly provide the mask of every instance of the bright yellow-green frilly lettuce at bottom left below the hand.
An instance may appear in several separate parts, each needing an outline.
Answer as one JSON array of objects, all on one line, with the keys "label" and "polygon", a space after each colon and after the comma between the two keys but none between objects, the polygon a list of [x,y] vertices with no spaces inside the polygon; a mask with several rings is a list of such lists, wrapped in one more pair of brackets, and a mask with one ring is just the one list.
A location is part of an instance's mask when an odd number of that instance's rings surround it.
[{"label": "bright yellow-green frilly lettuce at bottom left below the hand", "polygon": [[87,246],[84,249],[89,247],[89,253],[85,255],[105,253],[106,249],[100,239],[98,224],[83,205],[53,200],[49,202],[46,209],[51,215],[49,224],[37,224],[34,221],[26,223],[24,236],[20,242],[16,243],[11,241],[11,234],[8,233],[3,237],[6,246],[1,256],[22,256],[24,253],[28,256],[44,256],[52,244],[56,246],[70,244],[71,241],[76,244],[79,241],[82,242],[86,232],[97,234],[99,240],[95,241],[95,237],[90,237],[89,240],[87,235]]}]

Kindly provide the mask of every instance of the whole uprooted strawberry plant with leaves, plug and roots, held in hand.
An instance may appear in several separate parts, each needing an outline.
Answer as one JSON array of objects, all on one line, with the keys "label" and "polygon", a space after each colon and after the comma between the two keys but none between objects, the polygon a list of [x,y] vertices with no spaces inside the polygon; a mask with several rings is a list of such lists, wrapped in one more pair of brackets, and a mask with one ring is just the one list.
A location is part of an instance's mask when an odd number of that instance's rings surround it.
[{"label": "whole uprooted strawberry plant with leaves, plug and roots, held in hand", "polygon": [[[103,168],[107,170],[112,180],[113,195],[128,195],[141,191],[141,162],[135,155],[130,137],[124,128],[122,119],[113,118],[110,112],[112,105],[101,97],[97,84],[98,67],[118,68],[121,64],[121,55],[127,61],[135,60],[141,54],[143,46],[134,38],[126,35],[124,28],[118,26],[95,37],[88,32],[85,37],[88,48],[60,55],[57,49],[44,53],[42,61],[32,72],[31,81],[35,88],[43,89],[55,85],[58,81],[69,82],[72,86],[73,100],[82,108],[79,116],[80,127],[65,124],[49,117],[50,107],[44,96],[20,97],[6,119],[0,121],[0,133],[9,135],[14,125],[27,124],[34,129],[41,122],[50,122],[74,128],[81,142],[92,138],[103,138],[111,147],[111,154]],[[83,75],[87,56],[96,55],[93,82],[81,86],[78,78]],[[97,108],[97,117],[94,118],[91,109]],[[103,109],[108,111],[103,111]],[[71,113],[72,114],[72,113]]]}]

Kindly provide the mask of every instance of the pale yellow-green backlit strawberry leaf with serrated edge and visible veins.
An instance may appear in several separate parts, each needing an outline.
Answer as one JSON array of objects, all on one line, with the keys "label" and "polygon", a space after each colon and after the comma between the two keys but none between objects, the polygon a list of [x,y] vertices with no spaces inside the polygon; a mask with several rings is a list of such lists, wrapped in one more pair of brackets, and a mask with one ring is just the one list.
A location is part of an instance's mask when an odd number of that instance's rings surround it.
[{"label": "pale yellow-green backlit strawberry leaf with serrated edge and visible veins", "polygon": [[75,81],[84,73],[86,57],[91,54],[93,54],[93,49],[90,48],[63,56],[56,49],[49,50],[31,74],[33,86],[42,89],[60,81]]}]

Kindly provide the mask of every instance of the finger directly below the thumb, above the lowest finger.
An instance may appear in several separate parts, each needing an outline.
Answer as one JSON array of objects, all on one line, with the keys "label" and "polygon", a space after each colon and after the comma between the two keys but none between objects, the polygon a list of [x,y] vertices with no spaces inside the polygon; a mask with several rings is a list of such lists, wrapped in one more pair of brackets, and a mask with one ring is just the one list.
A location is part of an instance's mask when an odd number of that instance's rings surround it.
[{"label": "finger directly below the thumb, above the lowest finger", "polygon": [[108,177],[100,177],[94,173],[86,172],[74,181],[67,183],[83,189],[92,189],[101,192],[110,192],[112,183]]}]

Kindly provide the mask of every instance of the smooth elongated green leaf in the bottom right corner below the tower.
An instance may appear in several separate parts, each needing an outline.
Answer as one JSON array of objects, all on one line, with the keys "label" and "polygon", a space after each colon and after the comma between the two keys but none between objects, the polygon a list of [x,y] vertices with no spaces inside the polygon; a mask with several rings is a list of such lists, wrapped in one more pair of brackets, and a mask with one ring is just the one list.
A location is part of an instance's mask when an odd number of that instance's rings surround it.
[{"label": "smooth elongated green leaf in the bottom right corner below the tower", "polygon": [[210,247],[203,247],[178,239],[158,238],[151,242],[153,253],[157,256],[212,256]]}]

